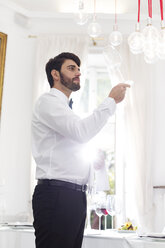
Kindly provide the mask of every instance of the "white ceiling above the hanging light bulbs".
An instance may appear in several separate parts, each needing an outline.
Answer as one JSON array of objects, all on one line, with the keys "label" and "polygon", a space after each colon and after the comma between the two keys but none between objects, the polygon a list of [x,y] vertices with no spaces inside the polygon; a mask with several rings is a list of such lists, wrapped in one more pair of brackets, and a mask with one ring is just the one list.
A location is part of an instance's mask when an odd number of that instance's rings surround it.
[{"label": "white ceiling above the hanging light bulbs", "polygon": [[[78,0],[0,0],[0,3],[15,8],[29,16],[65,15],[76,11]],[[138,0],[116,0],[118,15],[137,17]],[[148,0],[141,1],[141,15],[147,17]],[[92,13],[94,0],[84,0],[85,10]],[[153,15],[159,15],[159,0],[153,1]],[[96,0],[96,12],[100,14],[114,14],[115,0]]]}]

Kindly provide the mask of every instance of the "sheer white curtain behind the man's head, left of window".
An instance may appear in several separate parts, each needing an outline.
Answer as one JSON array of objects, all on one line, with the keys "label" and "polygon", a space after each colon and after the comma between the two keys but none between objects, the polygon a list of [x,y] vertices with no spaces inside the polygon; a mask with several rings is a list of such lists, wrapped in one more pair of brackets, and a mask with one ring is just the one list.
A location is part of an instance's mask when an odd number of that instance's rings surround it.
[{"label": "sheer white curtain behind the man's head, left of window", "polygon": [[[49,84],[45,73],[45,65],[50,58],[62,52],[72,52],[81,59],[81,88],[84,85],[86,57],[88,54],[88,37],[77,35],[39,35],[37,37],[36,66],[34,75],[33,102],[45,91],[49,90]],[[74,100],[80,99],[82,90],[74,93]],[[35,186],[35,162],[32,159],[31,166],[31,195]]]}]

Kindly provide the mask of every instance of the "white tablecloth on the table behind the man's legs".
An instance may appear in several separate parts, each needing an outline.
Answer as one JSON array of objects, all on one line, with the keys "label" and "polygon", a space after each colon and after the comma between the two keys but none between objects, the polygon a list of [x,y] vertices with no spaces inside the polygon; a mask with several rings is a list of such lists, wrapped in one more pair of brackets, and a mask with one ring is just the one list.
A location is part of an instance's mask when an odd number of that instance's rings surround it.
[{"label": "white tablecloth on the table behind the man's legs", "polygon": [[[0,228],[0,248],[35,248],[33,229]],[[85,231],[82,248],[165,248],[165,241],[140,239],[115,231]]]}]

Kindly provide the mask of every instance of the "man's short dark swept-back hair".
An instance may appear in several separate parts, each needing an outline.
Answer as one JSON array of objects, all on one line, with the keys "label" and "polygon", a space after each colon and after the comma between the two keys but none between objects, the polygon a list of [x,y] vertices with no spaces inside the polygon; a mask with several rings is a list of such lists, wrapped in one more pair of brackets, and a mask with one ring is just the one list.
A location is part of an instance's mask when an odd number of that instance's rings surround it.
[{"label": "man's short dark swept-back hair", "polygon": [[60,53],[56,57],[50,59],[45,66],[46,75],[48,78],[48,82],[50,84],[50,88],[52,88],[54,86],[51,71],[53,69],[55,69],[55,70],[60,72],[61,66],[65,62],[66,59],[73,60],[78,65],[78,67],[80,67],[81,61],[80,61],[79,57],[73,53]]}]

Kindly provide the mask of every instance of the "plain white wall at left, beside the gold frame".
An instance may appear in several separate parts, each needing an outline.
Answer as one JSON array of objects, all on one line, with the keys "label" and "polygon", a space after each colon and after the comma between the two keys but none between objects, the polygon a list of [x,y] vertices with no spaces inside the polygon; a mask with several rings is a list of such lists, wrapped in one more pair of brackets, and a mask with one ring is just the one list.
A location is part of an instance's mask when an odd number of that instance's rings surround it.
[{"label": "plain white wall at left, beside the gold frame", "polygon": [[14,220],[29,211],[30,125],[35,40],[0,6],[0,31],[8,35],[0,123],[0,215]]}]

